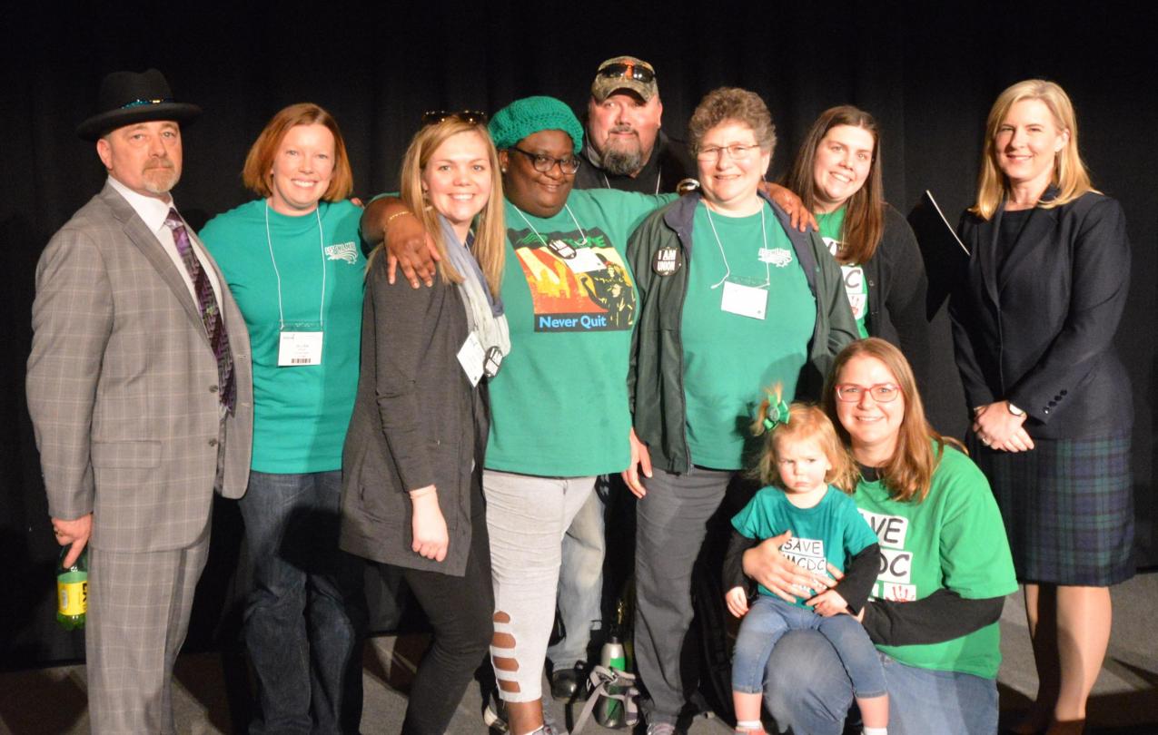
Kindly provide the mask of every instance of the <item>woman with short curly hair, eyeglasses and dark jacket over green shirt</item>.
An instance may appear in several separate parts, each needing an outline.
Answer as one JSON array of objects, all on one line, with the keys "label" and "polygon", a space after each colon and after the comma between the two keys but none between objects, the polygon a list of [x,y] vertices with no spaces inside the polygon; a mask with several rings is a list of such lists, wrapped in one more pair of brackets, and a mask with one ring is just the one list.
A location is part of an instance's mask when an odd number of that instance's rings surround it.
[{"label": "woman with short curly hair, eyeglasses and dark jacket over green shirt", "polygon": [[780,383],[787,402],[815,397],[833,357],[857,338],[823,242],[793,229],[760,191],[776,145],[760,96],[711,91],[688,132],[701,192],[648,216],[628,248],[639,289],[624,472],[639,498],[635,651],[651,696],[647,732],[662,735],[684,706],[692,566],[756,448],[746,427],[762,388]]}]

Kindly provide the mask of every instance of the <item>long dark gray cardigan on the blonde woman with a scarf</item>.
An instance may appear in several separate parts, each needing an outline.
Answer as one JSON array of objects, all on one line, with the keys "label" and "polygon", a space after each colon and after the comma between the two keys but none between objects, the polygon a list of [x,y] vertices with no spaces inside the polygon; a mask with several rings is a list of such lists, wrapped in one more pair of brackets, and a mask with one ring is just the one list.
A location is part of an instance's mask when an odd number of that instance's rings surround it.
[{"label": "long dark gray cardigan on the blonde woman with a scarf", "polygon": [[[390,285],[374,258],[362,307],[361,369],[342,465],[342,534],[351,553],[462,576],[471,493],[481,492],[489,419],[483,383],[471,388],[456,354],[468,335],[459,289]],[[410,549],[406,491],[438,487],[449,547],[441,563]],[[481,508],[482,504],[476,504]]]}]

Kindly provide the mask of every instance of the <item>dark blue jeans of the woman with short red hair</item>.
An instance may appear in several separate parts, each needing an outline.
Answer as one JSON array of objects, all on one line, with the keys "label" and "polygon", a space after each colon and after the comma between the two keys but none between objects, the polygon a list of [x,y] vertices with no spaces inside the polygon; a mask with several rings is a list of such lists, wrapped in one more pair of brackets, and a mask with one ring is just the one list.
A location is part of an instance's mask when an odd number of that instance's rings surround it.
[{"label": "dark blue jeans of the woman with short red hair", "polygon": [[361,563],[338,549],[342,472],[250,472],[240,501],[252,567],[245,647],[261,714],[250,733],[357,733]]}]

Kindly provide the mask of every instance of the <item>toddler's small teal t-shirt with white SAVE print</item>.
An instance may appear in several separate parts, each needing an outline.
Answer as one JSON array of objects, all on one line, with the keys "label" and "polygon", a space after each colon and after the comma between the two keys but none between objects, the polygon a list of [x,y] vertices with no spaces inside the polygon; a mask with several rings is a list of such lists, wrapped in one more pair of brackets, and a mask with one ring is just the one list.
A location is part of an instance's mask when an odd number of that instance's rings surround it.
[{"label": "toddler's small teal t-shirt with white SAVE print", "polygon": [[[757,492],[732,519],[732,527],[746,538],[764,541],[792,531],[792,538],[780,546],[780,553],[809,572],[831,576],[828,565],[843,572],[848,561],[877,543],[877,535],[857,512],[857,504],[838,488],[828,486],[820,502],[811,508],[792,505],[787,493],[769,486]],[[761,595],[772,591],[760,586]],[[796,605],[807,597],[797,597]]]}]

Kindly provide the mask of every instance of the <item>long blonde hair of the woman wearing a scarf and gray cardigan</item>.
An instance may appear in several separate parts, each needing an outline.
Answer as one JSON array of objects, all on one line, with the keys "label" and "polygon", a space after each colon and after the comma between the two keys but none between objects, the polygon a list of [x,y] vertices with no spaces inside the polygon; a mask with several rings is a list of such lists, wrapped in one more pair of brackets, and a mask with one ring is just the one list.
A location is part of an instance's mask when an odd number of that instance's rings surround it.
[{"label": "long blonde hair of the woman wearing a scarf and gray cardigan", "polygon": [[[499,156],[494,150],[490,134],[486,132],[486,126],[448,117],[415,133],[410,147],[406,148],[406,154],[402,159],[402,191],[400,196],[403,204],[422,221],[423,227],[434,240],[441,256],[438,264],[439,274],[452,284],[462,282],[462,274],[455,271],[447,258],[446,242],[442,238],[442,227],[438,220],[438,212],[427,204],[423,196],[423,171],[430,163],[431,156],[448,138],[459,133],[476,133],[486,146],[486,157],[491,167],[491,196],[482,212],[475,218],[472,252],[479,270],[486,278],[491,295],[498,296],[503,282],[506,229],[503,220],[503,178],[499,172]],[[381,247],[379,245],[379,248]]]}]

